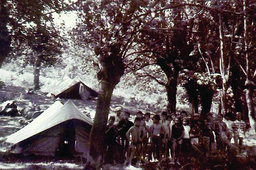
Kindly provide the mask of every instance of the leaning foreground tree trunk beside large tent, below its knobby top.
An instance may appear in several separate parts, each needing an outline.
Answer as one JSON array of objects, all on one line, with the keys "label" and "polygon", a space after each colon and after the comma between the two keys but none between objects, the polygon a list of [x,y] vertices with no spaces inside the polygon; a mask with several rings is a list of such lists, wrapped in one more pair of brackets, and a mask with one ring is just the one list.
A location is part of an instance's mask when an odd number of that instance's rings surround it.
[{"label": "leaning foreground tree trunk beside large tent, below its knobby top", "polygon": [[97,169],[101,166],[103,161],[105,128],[115,84],[108,83],[107,81],[100,81],[99,86],[100,89],[98,93],[96,114],[90,133],[90,152],[88,155],[89,161],[92,161]]}]

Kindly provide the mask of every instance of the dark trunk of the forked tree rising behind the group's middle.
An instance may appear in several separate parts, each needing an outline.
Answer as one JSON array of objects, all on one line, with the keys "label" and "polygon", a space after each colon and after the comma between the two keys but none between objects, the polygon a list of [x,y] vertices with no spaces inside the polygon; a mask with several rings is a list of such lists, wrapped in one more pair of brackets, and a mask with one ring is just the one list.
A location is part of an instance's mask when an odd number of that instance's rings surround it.
[{"label": "dark trunk of the forked tree rising behind the group's middle", "polygon": [[177,84],[178,84],[178,73],[174,71],[173,77],[168,77],[168,82],[166,85],[167,90],[167,112],[169,114],[176,113],[176,94],[177,94]]}]

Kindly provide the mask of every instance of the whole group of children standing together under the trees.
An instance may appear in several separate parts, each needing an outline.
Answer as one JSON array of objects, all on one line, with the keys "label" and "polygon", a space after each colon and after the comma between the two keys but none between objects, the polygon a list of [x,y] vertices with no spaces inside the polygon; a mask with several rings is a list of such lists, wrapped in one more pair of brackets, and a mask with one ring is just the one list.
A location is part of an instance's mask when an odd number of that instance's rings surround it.
[{"label": "whole group of children standing together under the trees", "polygon": [[[106,128],[106,163],[115,163],[117,144],[123,146],[125,163],[131,165],[136,157],[137,165],[141,160],[165,161],[170,158],[170,164],[180,165],[189,163],[191,148],[198,150],[205,158],[212,151],[216,141],[217,149],[223,152],[230,147],[233,137],[235,144],[242,145],[245,135],[245,122],[241,120],[241,113],[237,112],[236,121],[230,121],[232,114],[217,115],[213,119],[208,113],[204,120],[199,114],[181,113],[167,114],[163,111],[161,116],[150,113],[143,114],[138,111],[134,122],[129,121],[130,113],[121,116],[120,107],[116,108],[116,117],[111,116]],[[215,134],[215,138],[214,138]],[[199,148],[199,149],[198,149]]]}]

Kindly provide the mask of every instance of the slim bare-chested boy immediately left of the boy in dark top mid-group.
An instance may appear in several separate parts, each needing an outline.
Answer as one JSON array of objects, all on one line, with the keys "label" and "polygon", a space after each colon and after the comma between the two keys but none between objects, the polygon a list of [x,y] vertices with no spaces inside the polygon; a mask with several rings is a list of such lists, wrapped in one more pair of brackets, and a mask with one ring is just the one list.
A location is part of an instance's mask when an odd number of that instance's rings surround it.
[{"label": "slim bare-chested boy immediately left of the boy in dark top mid-group", "polygon": [[167,112],[163,111],[162,114],[162,120],[160,121],[163,124],[163,128],[166,132],[166,138],[164,139],[164,135],[165,134],[161,134],[162,135],[162,140],[163,140],[163,158],[164,160],[167,158],[167,142],[171,137],[171,129],[170,129],[170,122],[166,120],[167,118]]}]

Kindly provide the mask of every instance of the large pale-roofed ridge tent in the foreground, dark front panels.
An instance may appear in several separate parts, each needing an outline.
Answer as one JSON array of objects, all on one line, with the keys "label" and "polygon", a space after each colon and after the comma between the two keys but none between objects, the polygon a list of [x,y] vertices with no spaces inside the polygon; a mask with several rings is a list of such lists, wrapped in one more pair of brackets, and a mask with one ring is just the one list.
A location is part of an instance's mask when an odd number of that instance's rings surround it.
[{"label": "large pale-roofed ridge tent in the foreground, dark front panels", "polygon": [[42,114],[7,137],[12,152],[24,155],[86,155],[92,120],[71,101],[56,101]]}]

